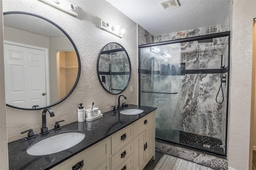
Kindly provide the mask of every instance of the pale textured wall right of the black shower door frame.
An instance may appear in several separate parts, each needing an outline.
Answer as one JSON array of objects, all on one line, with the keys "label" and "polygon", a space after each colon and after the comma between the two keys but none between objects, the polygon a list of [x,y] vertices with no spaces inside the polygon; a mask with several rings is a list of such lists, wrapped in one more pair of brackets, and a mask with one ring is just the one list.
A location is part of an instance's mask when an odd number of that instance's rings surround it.
[{"label": "pale textured wall right of the black shower door frame", "polygon": [[250,123],[255,9],[255,0],[233,0],[228,166],[236,170],[252,169]]}]

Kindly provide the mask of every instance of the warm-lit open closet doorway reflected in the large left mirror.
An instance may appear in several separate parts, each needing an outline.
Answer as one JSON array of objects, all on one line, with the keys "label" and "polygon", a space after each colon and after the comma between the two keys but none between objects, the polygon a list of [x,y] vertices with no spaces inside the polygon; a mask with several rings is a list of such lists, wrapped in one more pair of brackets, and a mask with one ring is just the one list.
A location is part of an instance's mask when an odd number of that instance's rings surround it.
[{"label": "warm-lit open closet doorway reflected in the large left mirror", "polygon": [[68,94],[76,82],[78,62],[76,51],[57,51],[58,100]]}]

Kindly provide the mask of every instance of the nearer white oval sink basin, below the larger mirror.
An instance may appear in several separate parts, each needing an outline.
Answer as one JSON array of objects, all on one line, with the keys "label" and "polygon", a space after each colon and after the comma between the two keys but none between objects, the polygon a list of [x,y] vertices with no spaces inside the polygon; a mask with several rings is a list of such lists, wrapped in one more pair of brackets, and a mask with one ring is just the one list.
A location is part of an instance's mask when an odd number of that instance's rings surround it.
[{"label": "nearer white oval sink basin, below the larger mirror", "polygon": [[79,131],[60,132],[30,145],[27,152],[36,156],[53,154],[78,144],[84,137],[85,134]]}]

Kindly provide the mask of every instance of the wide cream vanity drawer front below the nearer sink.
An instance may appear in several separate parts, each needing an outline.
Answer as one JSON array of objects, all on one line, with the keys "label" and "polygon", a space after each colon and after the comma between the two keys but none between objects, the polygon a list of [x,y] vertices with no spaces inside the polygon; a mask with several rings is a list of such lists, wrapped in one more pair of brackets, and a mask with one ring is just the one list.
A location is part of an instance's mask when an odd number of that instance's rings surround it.
[{"label": "wide cream vanity drawer front below the nearer sink", "polygon": [[70,159],[58,164],[51,170],[71,170],[72,166],[84,160],[85,169],[94,169],[110,156],[110,138],[106,138]]}]

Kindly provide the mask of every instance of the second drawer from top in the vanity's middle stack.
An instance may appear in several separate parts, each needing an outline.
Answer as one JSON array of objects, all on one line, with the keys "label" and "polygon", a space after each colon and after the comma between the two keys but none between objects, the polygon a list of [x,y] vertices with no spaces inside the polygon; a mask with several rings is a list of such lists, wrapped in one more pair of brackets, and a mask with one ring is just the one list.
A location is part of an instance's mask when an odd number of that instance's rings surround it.
[{"label": "second drawer from top in the vanity's middle stack", "polygon": [[112,169],[116,169],[126,158],[128,158],[133,153],[133,141],[128,143],[124,148],[119,150],[111,158]]}]

